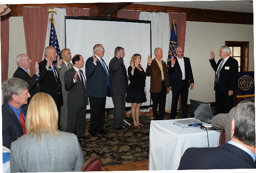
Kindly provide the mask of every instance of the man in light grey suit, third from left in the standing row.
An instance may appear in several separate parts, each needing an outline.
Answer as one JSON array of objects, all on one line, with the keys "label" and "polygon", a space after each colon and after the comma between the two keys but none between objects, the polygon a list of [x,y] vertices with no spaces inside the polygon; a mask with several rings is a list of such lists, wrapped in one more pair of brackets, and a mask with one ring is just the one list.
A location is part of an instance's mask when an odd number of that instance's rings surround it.
[{"label": "man in light grey suit, third from left in the standing row", "polygon": [[70,63],[72,59],[70,49],[62,49],[60,55],[61,55],[61,59],[63,60],[61,63],[61,66],[58,66],[55,63],[55,67],[57,69],[58,76],[61,80],[61,89],[62,89],[62,95],[63,95],[63,106],[61,106],[61,130],[64,132],[67,132],[68,108],[67,108],[67,91],[65,89],[64,75],[68,69],[73,67],[73,64]]}]

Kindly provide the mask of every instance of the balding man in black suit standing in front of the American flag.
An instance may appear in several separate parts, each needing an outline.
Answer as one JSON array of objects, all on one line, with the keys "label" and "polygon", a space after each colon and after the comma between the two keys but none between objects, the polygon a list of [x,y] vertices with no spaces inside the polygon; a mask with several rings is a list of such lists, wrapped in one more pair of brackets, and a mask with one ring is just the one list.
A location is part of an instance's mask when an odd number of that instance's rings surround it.
[{"label": "balding man in black suit standing in front of the American flag", "polygon": [[[57,60],[58,57],[58,60]],[[58,72],[52,63],[57,60],[58,66],[61,66],[63,60],[60,61],[56,49],[54,47],[48,46],[44,49],[44,60],[39,63],[39,71],[45,71],[40,73],[39,88],[40,92],[45,92],[52,96],[53,100],[58,109],[58,126],[61,116],[61,106],[63,105],[63,96],[61,89],[61,80],[58,76]],[[47,70],[45,70],[45,68]]]}]

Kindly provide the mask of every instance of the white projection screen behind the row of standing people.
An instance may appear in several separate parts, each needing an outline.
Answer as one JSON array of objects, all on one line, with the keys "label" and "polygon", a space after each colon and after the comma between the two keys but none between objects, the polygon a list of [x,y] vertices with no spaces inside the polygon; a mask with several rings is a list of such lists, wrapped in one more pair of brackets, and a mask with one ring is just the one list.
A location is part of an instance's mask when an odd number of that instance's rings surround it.
[{"label": "white projection screen behind the row of standing people", "polygon": [[[143,20],[99,19],[91,17],[66,17],[66,48],[72,55],[80,54],[84,62],[93,55],[93,46],[102,44],[105,49],[104,61],[109,66],[117,46],[125,49],[124,63],[130,66],[132,55],[141,55],[141,65],[146,70],[147,57],[151,55],[151,23]],[[85,74],[85,64],[82,68]],[[146,78],[147,102],[150,105],[150,78]],[[113,108],[112,98],[107,97],[105,108]],[[125,107],[131,107],[126,103]],[[87,109],[90,109],[87,106]]]}]

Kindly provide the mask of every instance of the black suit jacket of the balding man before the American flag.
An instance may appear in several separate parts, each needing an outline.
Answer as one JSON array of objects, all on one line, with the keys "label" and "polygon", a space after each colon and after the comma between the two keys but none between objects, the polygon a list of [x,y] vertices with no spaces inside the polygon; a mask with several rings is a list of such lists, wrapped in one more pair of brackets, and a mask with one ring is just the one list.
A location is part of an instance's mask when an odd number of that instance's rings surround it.
[{"label": "black suit jacket of the balding man before the American flag", "polygon": [[[56,105],[58,103],[58,92],[60,92],[61,99],[61,106],[63,106],[63,96],[62,96],[62,89],[61,89],[61,80],[58,76],[58,83],[60,84],[60,89],[58,90],[57,82],[55,80],[54,72],[50,67],[49,70],[46,69],[47,60],[44,58],[43,61],[39,63],[39,72],[40,72],[40,80],[39,80],[39,88],[40,92],[45,92],[52,96],[53,100],[55,101]],[[42,71],[42,73],[41,73]]]}]

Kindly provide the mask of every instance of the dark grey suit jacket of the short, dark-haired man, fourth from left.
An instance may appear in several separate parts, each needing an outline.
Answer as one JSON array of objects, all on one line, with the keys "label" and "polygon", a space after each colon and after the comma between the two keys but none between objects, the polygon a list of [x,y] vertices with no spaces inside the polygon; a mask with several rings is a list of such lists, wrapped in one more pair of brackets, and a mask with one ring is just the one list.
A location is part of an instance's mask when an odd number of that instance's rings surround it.
[{"label": "dark grey suit jacket of the short, dark-haired man, fourth from left", "polygon": [[[81,73],[84,76],[83,72]],[[73,79],[75,74],[76,74],[76,70],[74,69],[74,67],[72,67],[71,69],[67,70],[64,76],[65,89],[67,90],[67,93],[68,93],[67,107],[83,107],[83,103],[84,103],[83,90],[84,89],[86,93],[85,97],[86,97],[87,105],[89,104],[86,81],[84,81],[85,88],[79,76],[77,76],[76,83],[74,83]]]}]

